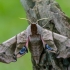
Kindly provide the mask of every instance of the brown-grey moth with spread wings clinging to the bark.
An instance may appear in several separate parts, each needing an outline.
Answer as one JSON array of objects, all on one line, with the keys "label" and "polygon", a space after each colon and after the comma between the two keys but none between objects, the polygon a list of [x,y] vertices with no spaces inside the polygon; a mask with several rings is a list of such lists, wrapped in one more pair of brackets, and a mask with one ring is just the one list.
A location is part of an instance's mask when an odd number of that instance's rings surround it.
[{"label": "brown-grey moth with spread wings clinging to the bark", "polygon": [[[39,19],[36,23],[32,23],[29,19],[26,19],[31,23],[26,30],[0,44],[0,62],[16,62],[17,58],[28,53],[28,49],[36,65],[39,65],[43,51],[55,54],[59,51],[57,58],[67,58],[70,52],[66,49],[66,46],[70,48],[70,39],[66,36],[52,33],[38,25],[38,21],[44,19],[47,18]],[[64,44],[64,49],[59,49],[54,43],[54,39]]]}]

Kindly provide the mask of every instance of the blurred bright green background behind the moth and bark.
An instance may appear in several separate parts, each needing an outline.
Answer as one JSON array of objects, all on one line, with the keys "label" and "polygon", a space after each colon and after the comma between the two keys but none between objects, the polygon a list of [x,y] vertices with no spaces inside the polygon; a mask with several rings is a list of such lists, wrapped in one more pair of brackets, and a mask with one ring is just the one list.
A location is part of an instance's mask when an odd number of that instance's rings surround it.
[{"label": "blurred bright green background behind the moth and bark", "polygon": [[[70,0],[56,0],[62,10],[70,17]],[[28,26],[20,0],[0,0],[0,43],[23,31]],[[0,70],[32,70],[30,53],[18,59],[15,63],[0,63]]]}]

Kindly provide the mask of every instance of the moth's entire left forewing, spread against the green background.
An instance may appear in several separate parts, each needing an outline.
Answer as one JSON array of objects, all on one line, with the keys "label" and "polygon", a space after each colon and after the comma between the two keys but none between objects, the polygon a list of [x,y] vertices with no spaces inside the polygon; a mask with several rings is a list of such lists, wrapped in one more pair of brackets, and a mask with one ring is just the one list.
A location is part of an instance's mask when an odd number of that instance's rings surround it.
[{"label": "moth's entire left forewing, spread against the green background", "polygon": [[26,44],[27,36],[23,31],[16,36],[8,39],[0,45],[0,61],[10,63],[17,60],[17,54]]}]

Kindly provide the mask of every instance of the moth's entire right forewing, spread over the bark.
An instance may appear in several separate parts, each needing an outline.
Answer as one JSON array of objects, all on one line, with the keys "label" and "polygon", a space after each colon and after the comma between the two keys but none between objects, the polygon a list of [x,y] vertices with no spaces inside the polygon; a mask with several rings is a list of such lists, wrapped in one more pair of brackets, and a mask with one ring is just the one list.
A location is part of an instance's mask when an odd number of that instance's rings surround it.
[{"label": "moth's entire right forewing, spread over the bark", "polygon": [[[70,50],[70,39],[68,37],[54,33],[54,32],[52,33],[51,31],[47,29],[43,29],[42,38],[46,44],[50,45],[50,47],[53,48],[53,51],[55,52],[55,54],[58,54],[58,51],[59,51],[59,55],[57,56],[57,58],[70,57],[70,51],[69,51]],[[54,39],[60,42],[62,47],[60,47],[59,45],[58,46],[60,48],[57,47],[54,43]]]}]

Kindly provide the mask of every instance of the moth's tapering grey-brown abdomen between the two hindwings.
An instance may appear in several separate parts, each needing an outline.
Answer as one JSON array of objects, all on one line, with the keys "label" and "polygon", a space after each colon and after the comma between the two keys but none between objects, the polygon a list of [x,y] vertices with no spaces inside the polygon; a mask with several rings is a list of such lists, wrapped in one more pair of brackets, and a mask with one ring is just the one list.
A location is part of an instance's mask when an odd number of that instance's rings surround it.
[{"label": "moth's tapering grey-brown abdomen between the two hindwings", "polygon": [[43,43],[39,34],[29,36],[29,50],[31,52],[31,56],[35,60],[35,63],[39,64],[40,56],[43,51]]}]

